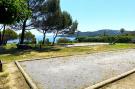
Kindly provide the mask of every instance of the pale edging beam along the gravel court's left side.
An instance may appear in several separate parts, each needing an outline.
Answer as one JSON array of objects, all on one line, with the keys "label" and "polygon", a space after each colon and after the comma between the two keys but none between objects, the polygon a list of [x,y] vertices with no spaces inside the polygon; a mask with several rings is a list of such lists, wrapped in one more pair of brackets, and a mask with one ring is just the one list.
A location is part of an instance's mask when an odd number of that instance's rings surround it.
[{"label": "pale edging beam along the gravel court's left side", "polygon": [[32,79],[28,76],[28,74],[24,71],[18,61],[15,61],[16,66],[21,71],[22,75],[24,76],[26,82],[28,83],[30,89],[38,89],[36,84],[32,81]]}]

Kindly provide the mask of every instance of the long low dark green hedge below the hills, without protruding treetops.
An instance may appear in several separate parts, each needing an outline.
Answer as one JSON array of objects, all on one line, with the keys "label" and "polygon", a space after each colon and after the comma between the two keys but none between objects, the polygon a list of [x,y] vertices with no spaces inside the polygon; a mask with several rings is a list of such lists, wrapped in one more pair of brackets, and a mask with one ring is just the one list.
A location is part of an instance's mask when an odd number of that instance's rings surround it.
[{"label": "long low dark green hedge below the hills, without protruding treetops", "polygon": [[109,42],[109,43],[129,43],[133,36],[101,36],[101,37],[78,37],[79,42]]}]

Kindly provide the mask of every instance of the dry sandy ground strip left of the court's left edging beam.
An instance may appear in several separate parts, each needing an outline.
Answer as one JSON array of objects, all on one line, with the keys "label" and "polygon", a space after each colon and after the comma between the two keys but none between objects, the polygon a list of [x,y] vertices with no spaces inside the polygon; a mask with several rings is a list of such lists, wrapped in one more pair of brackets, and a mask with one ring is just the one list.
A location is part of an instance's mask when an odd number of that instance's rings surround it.
[{"label": "dry sandy ground strip left of the court's left edging beam", "polygon": [[9,73],[9,89],[30,89],[14,63],[7,64],[6,71]]}]

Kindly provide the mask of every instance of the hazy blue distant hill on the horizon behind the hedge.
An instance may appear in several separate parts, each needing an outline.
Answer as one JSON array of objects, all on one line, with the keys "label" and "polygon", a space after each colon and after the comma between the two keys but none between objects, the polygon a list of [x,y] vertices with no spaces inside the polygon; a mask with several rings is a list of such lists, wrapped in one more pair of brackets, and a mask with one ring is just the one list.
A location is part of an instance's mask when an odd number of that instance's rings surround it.
[{"label": "hazy blue distant hill on the horizon behind the hedge", "polygon": [[[77,34],[77,33],[76,33]],[[121,34],[119,30],[102,29],[94,32],[79,32],[79,36],[99,36],[99,35],[118,35]]]}]

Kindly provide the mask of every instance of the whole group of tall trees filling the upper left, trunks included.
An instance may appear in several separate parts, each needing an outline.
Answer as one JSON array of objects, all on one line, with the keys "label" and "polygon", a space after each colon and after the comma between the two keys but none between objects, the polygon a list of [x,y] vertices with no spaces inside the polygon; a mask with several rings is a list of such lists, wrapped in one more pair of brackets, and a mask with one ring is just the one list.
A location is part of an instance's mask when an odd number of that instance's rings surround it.
[{"label": "whole group of tall trees filling the upper left, trunks included", "polygon": [[8,37],[6,26],[21,30],[19,44],[24,44],[26,31],[31,29],[42,32],[42,44],[45,44],[46,33],[53,32],[52,45],[59,33],[74,34],[78,26],[77,20],[73,21],[67,11],[61,10],[60,0],[1,0],[0,24],[0,45],[5,44],[4,39]]}]

